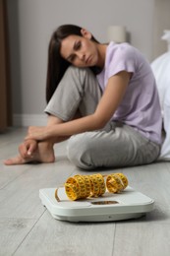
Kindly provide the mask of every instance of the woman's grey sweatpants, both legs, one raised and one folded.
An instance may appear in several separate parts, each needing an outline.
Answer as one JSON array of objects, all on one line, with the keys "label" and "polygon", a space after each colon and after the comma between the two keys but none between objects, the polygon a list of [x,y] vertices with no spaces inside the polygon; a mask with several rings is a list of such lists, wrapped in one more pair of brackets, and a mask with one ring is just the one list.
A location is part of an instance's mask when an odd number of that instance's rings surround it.
[{"label": "woman's grey sweatpants, both legs, one raised and one folded", "polygon": [[[71,66],[45,112],[67,122],[77,112],[82,116],[93,113],[101,95],[97,80],[89,69]],[[159,145],[133,127],[113,121],[102,130],[72,136],[67,146],[69,160],[85,169],[146,164],[156,160],[159,152]]]}]

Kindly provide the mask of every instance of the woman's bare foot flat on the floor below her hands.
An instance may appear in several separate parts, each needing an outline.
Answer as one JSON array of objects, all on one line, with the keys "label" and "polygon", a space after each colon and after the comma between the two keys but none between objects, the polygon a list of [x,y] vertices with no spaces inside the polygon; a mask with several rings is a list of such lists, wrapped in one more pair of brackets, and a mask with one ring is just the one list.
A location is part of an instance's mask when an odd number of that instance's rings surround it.
[{"label": "woman's bare foot flat on the floor below her hands", "polygon": [[22,158],[17,156],[15,158],[4,160],[5,165],[24,164],[28,162],[54,162],[54,150],[53,146],[49,143],[42,142],[38,144],[37,150],[29,158]]}]

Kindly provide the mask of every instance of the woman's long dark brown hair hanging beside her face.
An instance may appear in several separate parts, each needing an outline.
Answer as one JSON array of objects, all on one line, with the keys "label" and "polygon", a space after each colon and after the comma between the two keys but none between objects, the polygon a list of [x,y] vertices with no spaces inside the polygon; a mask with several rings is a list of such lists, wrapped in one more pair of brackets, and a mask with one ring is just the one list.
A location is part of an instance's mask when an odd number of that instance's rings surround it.
[{"label": "woman's long dark brown hair hanging beside her face", "polygon": [[[54,94],[58,84],[60,83],[67,68],[71,65],[60,55],[61,41],[71,34],[82,35],[82,28],[76,25],[63,25],[53,32],[48,46],[48,66],[46,80],[46,101],[48,102]],[[91,36],[91,40],[98,41]],[[97,68],[92,67],[91,70],[97,73]]]}]

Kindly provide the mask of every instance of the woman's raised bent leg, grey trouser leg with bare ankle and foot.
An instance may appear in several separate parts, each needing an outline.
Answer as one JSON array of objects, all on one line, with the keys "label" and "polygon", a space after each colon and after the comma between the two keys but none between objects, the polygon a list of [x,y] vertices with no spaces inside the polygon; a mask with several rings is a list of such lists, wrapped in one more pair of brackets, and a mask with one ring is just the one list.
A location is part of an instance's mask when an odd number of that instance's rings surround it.
[{"label": "woman's raised bent leg, grey trouser leg with bare ankle and foot", "polygon": [[[88,69],[69,67],[45,111],[50,113],[47,125],[69,121],[79,112],[85,116],[92,113],[101,97],[101,91],[95,76]],[[52,162],[55,160],[53,145],[68,138],[55,138],[53,141],[39,142],[32,156],[24,158],[21,154],[5,160],[7,165],[22,164],[30,161]],[[20,150],[25,149],[24,143]]]}]

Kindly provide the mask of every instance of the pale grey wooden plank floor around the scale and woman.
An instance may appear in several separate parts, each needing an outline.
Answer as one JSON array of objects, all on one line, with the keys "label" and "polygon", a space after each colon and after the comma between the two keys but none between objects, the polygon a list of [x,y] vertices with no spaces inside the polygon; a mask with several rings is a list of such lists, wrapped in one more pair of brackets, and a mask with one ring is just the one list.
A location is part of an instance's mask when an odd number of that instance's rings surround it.
[{"label": "pale grey wooden plank floor around the scale and woman", "polygon": [[25,135],[26,129],[19,128],[0,134],[0,256],[170,255],[170,162],[119,169],[132,187],[155,200],[155,209],[145,217],[115,223],[60,222],[42,206],[39,189],[56,187],[85,171],[67,160],[66,143],[55,148],[55,163],[5,166],[3,160],[16,156]]}]

